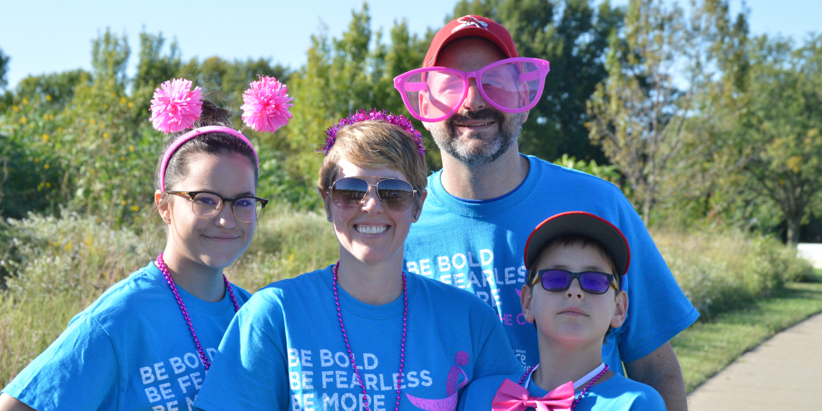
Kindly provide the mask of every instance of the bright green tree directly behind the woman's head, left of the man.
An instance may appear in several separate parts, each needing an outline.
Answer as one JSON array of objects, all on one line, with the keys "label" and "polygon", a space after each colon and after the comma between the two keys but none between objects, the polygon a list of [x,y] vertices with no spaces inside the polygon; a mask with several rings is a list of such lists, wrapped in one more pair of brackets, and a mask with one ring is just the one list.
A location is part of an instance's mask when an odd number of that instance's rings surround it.
[{"label": "bright green tree directly behind the woman's head, left of the man", "polygon": [[[395,21],[390,37],[389,48],[382,43],[381,30],[372,31],[367,4],[352,12],[349,28],[339,39],[329,38],[325,30],[312,35],[306,66],[289,80],[294,117],[276,146],[281,153],[278,167],[288,176],[283,187],[291,195],[298,193],[301,202],[319,204],[313,188],[321,162],[316,150],[325,143],[327,127],[357,109],[403,113],[393,79],[422,61],[425,46],[409,34],[404,21]],[[419,123],[417,127],[422,129]]]}]

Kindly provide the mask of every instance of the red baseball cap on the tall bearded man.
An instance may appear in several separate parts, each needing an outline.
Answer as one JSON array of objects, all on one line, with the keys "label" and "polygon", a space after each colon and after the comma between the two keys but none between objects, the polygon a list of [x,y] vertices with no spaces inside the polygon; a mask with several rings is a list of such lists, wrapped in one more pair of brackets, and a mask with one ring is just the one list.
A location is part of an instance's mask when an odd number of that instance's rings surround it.
[{"label": "red baseball cap on the tall bearded man", "polygon": [[423,67],[432,67],[436,62],[436,55],[446,44],[462,37],[476,36],[491,41],[500,48],[507,58],[520,57],[516,51],[514,40],[505,27],[481,16],[463,16],[446,24],[436,33],[431,41],[428,53],[425,53]]}]

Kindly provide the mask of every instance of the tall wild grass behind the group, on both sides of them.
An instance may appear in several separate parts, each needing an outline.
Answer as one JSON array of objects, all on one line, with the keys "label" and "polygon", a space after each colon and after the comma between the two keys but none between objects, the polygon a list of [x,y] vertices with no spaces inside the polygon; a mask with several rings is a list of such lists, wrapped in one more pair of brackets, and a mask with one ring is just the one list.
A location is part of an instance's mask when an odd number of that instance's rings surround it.
[{"label": "tall wild grass behind the group, on both sides of them", "polygon": [[[691,302],[713,316],[812,273],[796,252],[744,233],[656,230],[655,241]],[[146,237],[113,230],[93,216],[29,215],[0,227],[0,386],[64,330],[77,312],[155,257]],[[286,206],[266,209],[252,246],[226,270],[256,291],[335,261],[339,244],[324,215]],[[0,273],[2,274],[2,273]]]}]

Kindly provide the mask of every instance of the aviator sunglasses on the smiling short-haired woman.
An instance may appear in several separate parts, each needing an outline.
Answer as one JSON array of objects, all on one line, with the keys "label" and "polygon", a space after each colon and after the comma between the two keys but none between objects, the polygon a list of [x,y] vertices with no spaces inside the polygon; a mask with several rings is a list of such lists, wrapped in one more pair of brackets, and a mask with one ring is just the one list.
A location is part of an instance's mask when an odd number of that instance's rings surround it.
[{"label": "aviator sunglasses on the smiling short-haired woman", "polygon": [[349,210],[365,199],[371,187],[376,188],[376,196],[382,205],[393,211],[408,210],[413,204],[413,196],[417,194],[417,190],[409,182],[399,178],[383,178],[376,184],[369,184],[358,177],[339,178],[331,184],[328,192],[334,205],[339,209]]}]

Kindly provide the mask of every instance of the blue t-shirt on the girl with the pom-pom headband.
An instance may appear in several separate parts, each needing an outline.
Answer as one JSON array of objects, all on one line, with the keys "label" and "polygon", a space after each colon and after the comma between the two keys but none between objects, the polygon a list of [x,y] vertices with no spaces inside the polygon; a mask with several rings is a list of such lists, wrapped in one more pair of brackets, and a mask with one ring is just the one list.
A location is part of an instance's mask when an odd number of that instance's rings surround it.
[{"label": "blue t-shirt on the girl with the pom-pom headband", "polygon": [[[232,285],[237,303],[251,297]],[[229,293],[205,302],[178,287],[211,360],[234,316]],[[2,390],[38,411],[191,410],[205,366],[163,274],[151,262],[114,284]]]}]

